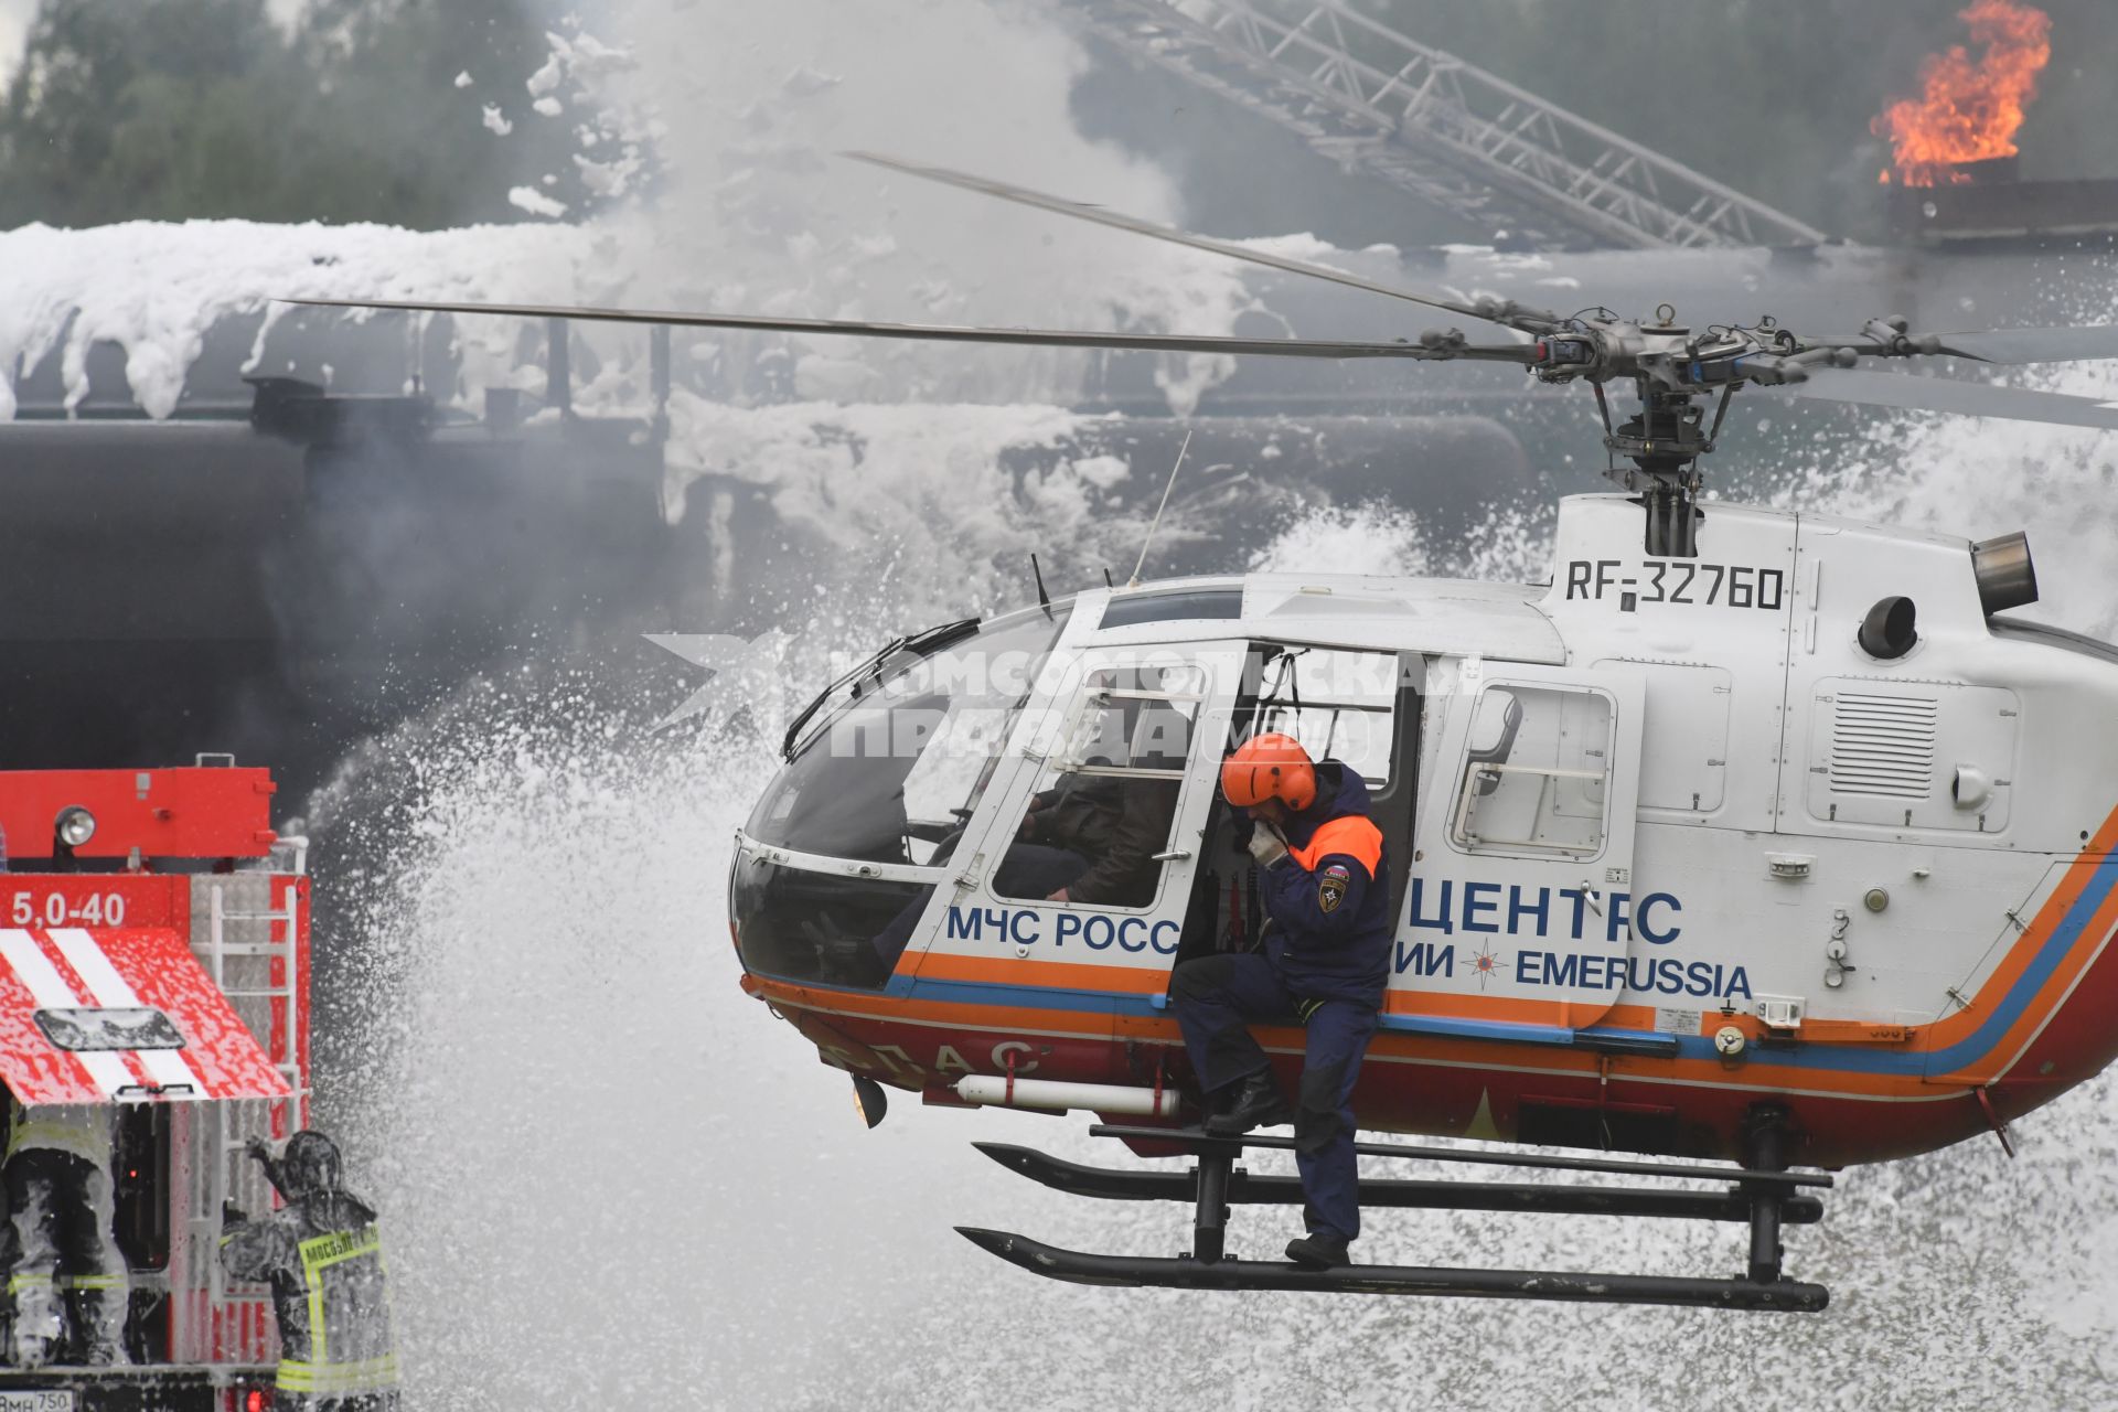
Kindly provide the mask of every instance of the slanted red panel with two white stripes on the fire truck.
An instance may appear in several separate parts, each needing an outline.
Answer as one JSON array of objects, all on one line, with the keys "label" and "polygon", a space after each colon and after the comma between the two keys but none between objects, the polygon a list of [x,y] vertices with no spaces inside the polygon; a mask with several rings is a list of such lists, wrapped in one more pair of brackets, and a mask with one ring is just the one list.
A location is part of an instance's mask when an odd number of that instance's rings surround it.
[{"label": "slanted red panel with two white stripes on the fire truck", "polygon": [[[169,1016],[180,1050],[61,1050],[38,1010]],[[0,927],[0,1080],[32,1107],[121,1099],[280,1099],[286,1080],[167,927]]]}]

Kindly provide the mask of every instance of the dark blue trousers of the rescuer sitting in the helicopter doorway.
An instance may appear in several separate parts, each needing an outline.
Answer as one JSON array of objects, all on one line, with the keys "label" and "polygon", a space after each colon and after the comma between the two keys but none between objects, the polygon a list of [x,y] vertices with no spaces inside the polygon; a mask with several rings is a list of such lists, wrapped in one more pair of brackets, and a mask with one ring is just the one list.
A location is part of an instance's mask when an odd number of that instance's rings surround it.
[{"label": "dark blue trousers of the rescuer sitting in the helicopter doorway", "polygon": [[1281,1020],[1309,1031],[1303,1090],[1294,1103],[1294,1164],[1303,1175],[1311,1234],[1347,1241],[1360,1234],[1360,1171],[1353,1160],[1353,1080],[1375,1035],[1375,1008],[1307,999],[1258,955],[1199,957],[1178,967],[1169,986],[1192,1069],[1207,1092],[1271,1067],[1250,1035],[1252,1020]]}]

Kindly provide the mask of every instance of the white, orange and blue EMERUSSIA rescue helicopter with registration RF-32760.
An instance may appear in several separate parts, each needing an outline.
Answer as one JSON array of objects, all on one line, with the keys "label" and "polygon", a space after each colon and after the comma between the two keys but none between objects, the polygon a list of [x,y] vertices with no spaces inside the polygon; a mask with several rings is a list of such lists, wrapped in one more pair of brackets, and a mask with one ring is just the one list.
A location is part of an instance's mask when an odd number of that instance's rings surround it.
[{"label": "white, orange and blue EMERUSSIA rescue helicopter with registration RF-32760", "polygon": [[[1178,1257],[959,1228],[1091,1285],[1821,1310],[1783,1270],[1832,1171],[1993,1133],[2118,1056],[2118,646],[2010,616],[2023,533],[1968,542],[1703,495],[1730,398],[2118,428],[2093,398],[1908,377],[1887,362],[2118,358],[2118,328],[1800,334],[1466,298],[868,152],[909,176],[1330,279],[1480,322],[1402,341],[957,328],[466,305],[576,318],[974,343],[1485,360],[1595,394],[1616,491],[1561,500],[1546,584],[1273,572],[1084,589],[902,635],[820,690],[737,832],[741,986],[845,1069],[951,1107],[1091,1111],[1190,1171],[981,1143],[1070,1194],[1192,1207]],[[1620,417],[1614,387],[1631,385]],[[1239,1166],[1290,1139],[1207,1137],[1169,1003],[1178,963],[1256,944],[1243,739],[1284,732],[1366,781],[1394,953],[1356,1090],[1364,1128],[1489,1145],[1366,1156],[1572,1181],[1364,1179],[1364,1207],[1747,1228],[1730,1279],[1239,1260],[1235,1205],[1298,1205]],[[1099,902],[1019,895],[1027,815],[1101,790],[1161,847]],[[1303,1033],[1256,1027],[1275,1067]],[[1497,1143],[1500,1147],[1493,1147]],[[1538,1152],[1512,1152],[1533,1147]],[[1580,1149],[1555,1154],[1552,1149]],[[1625,1156],[1631,1154],[1631,1156]],[[1697,1183],[1709,1183],[1701,1190]],[[1690,1183],[1690,1185],[1667,1185]]]}]

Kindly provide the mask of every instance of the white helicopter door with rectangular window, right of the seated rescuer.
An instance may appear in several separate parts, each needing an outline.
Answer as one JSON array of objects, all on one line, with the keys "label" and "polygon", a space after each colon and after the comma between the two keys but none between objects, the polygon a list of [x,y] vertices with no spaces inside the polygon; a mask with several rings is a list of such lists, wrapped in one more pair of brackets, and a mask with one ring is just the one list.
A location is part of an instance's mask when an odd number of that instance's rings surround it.
[{"label": "white helicopter door with rectangular window, right of the seated rescuer", "polygon": [[1618,1001],[1641,718],[1629,673],[1461,665],[1396,957],[1415,1012],[1580,1029]]}]

